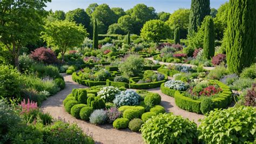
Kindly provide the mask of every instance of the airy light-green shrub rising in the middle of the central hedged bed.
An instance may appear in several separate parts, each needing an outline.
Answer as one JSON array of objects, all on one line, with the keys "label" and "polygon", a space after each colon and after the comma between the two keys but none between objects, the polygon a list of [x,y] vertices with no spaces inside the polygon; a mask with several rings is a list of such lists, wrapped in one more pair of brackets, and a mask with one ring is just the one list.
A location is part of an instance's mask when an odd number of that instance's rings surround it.
[{"label": "airy light-green shrub rising in the middle of the central hedged bed", "polygon": [[143,61],[143,58],[137,55],[130,55],[118,67],[119,70],[124,73],[124,76],[134,77],[142,73]]}]

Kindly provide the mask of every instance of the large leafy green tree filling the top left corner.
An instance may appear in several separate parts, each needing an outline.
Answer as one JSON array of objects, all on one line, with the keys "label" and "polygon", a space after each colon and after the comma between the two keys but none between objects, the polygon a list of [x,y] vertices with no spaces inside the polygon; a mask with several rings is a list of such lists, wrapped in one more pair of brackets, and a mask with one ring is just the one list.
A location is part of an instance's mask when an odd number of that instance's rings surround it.
[{"label": "large leafy green tree filling the top left corner", "polygon": [[0,2],[0,42],[11,53],[17,69],[21,47],[39,39],[46,2],[50,0]]}]

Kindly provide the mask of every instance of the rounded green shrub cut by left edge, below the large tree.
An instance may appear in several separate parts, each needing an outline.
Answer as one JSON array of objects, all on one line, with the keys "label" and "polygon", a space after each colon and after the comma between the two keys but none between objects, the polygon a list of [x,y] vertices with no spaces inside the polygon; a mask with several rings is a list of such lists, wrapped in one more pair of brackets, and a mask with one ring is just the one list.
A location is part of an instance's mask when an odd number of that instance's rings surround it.
[{"label": "rounded green shrub cut by left edge, below the large tree", "polygon": [[4,98],[17,97],[21,90],[19,72],[7,65],[0,65],[0,95]]}]

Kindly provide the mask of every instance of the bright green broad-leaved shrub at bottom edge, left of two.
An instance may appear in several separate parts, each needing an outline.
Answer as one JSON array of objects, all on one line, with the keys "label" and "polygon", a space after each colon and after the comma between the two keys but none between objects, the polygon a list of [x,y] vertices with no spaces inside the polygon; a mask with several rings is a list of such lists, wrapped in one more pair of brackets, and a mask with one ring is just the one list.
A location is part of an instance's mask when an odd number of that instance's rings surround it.
[{"label": "bright green broad-leaved shrub at bottom edge, left of two", "polygon": [[194,143],[197,125],[173,114],[152,116],[140,129],[146,143]]}]

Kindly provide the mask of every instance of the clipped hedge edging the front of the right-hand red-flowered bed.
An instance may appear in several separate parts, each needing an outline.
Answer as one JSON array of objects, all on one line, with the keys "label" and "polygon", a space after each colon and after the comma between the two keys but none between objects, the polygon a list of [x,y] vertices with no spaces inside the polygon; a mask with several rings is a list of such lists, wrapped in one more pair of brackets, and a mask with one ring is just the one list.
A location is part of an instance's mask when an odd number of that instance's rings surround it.
[{"label": "clipped hedge edging the front of the right-hand red-flowered bed", "polygon": [[[217,83],[217,85],[220,86],[223,92],[219,94],[219,97],[211,99],[213,102],[213,109],[226,108],[228,105],[231,104],[231,101],[232,101],[232,98],[231,98],[232,92],[230,90],[230,87],[228,87],[227,85],[217,80],[215,80],[215,83]],[[191,98],[185,97],[179,91],[176,91],[174,93],[174,98],[175,98],[175,103],[178,107],[190,112],[201,113],[200,111],[201,101],[193,100]]]}]

